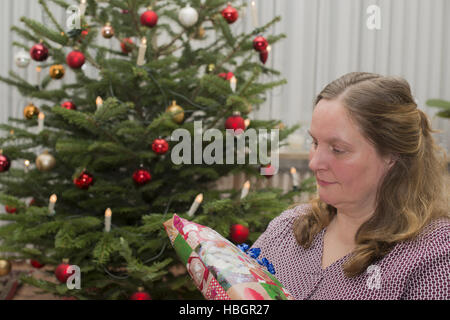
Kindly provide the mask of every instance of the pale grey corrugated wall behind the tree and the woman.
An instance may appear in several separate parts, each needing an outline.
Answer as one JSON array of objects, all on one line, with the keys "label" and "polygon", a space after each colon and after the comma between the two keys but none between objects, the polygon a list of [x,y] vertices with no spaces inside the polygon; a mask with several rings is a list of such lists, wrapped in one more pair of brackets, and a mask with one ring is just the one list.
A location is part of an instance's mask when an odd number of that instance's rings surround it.
[{"label": "pale grey corrugated wall behind the tree and the woman", "polygon": [[[250,0],[239,1],[250,3]],[[411,84],[420,108],[430,117],[437,110],[425,106],[427,99],[450,100],[450,0],[255,2],[260,24],[276,15],[282,17],[282,21],[270,32],[285,33],[287,39],[273,46],[268,65],[280,70],[289,83],[269,93],[267,102],[251,114],[251,118],[281,119],[287,125],[301,123],[306,129],[312,115],[314,96],[327,83],[351,71],[403,76]],[[381,9],[380,30],[366,27],[366,9],[372,4]],[[55,6],[50,4],[50,7]],[[57,19],[65,25],[66,13],[55,11]],[[14,64],[14,55],[19,49],[12,47],[11,43],[19,38],[9,29],[11,25],[23,26],[21,16],[42,21],[38,1],[2,0],[0,74],[5,76],[8,70],[13,69],[35,82],[35,62],[25,70]],[[45,19],[44,22],[50,23]],[[232,28],[236,32],[250,31],[251,11],[241,12],[240,19]],[[115,41],[111,45],[118,46]],[[70,79],[68,70],[64,81]],[[0,84],[0,97],[0,122],[7,122],[10,116],[23,116],[23,107],[28,101],[26,98],[20,97],[15,89],[3,83]],[[449,121],[439,118],[432,121],[435,128],[443,130],[436,135],[438,141],[450,150]],[[303,133],[304,130],[300,130],[291,137],[295,150],[290,151],[299,151]]]}]

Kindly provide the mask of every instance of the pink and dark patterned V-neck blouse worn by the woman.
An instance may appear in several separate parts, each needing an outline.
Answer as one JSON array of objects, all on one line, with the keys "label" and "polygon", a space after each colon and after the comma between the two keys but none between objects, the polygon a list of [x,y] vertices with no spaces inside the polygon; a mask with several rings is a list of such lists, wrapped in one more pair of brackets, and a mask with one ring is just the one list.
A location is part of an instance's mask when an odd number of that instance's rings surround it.
[{"label": "pink and dark patterned V-neck blouse worn by the woman", "polygon": [[430,223],[413,240],[398,243],[366,272],[347,278],[342,265],[351,253],[322,269],[323,229],[304,249],[292,226],[311,210],[302,204],[273,219],[252,247],[261,248],[275,277],[296,299],[450,299],[450,219]]}]

